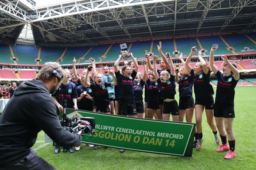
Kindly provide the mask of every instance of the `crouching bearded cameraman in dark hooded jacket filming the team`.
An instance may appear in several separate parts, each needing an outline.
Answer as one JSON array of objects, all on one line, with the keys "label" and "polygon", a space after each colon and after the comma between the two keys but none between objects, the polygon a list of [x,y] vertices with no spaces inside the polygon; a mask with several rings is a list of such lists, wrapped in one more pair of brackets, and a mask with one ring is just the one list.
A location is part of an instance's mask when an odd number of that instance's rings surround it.
[{"label": "crouching bearded cameraman in dark hooded jacket filming the team", "polygon": [[0,116],[0,169],[55,169],[31,147],[43,130],[62,146],[79,146],[81,135],[61,126],[50,97],[65,72],[57,62],[46,62],[38,80],[20,84]]}]

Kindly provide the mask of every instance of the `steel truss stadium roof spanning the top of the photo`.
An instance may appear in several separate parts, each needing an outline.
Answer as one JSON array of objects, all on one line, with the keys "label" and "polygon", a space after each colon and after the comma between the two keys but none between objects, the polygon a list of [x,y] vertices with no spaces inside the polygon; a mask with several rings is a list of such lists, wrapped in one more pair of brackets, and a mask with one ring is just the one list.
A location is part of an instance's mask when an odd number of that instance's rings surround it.
[{"label": "steel truss stadium roof spanning the top of the photo", "polygon": [[0,0],[0,43],[17,43],[27,24],[36,46],[255,32],[256,0],[73,0],[45,6]]}]

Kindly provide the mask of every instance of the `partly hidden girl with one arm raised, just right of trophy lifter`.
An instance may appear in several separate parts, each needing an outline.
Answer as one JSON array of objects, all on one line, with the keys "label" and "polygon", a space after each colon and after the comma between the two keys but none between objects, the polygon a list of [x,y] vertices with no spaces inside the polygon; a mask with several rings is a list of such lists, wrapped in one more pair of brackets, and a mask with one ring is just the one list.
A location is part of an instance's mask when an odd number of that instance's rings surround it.
[{"label": "partly hidden girl with one arm raised, just right of trophy lifter", "polygon": [[143,60],[143,75],[138,72],[134,78],[134,101],[136,104],[137,117],[143,118],[144,106],[143,106],[143,87],[145,85],[147,77],[146,61]]}]

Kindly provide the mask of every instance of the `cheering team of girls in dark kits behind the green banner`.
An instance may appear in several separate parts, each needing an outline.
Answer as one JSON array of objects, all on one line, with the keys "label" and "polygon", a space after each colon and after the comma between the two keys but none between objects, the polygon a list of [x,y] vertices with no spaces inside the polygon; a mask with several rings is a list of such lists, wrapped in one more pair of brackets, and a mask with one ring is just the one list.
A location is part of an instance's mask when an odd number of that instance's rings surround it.
[{"label": "cheering team of girls in dark kits behind the green banner", "polygon": [[[159,57],[157,55],[152,56],[152,67],[150,62],[151,53],[146,51],[143,60],[143,73],[138,72],[138,62],[132,53],[131,66],[128,66],[127,60],[124,60],[124,66],[121,70],[119,64],[123,56],[122,54],[119,55],[114,65],[115,75],[108,66],[103,68],[103,73],[96,73],[95,60],[92,60],[92,66],[88,66],[88,70],[81,77],[82,85],[78,87],[78,108],[79,105],[82,105],[84,98],[90,100],[90,110],[92,111],[113,114],[116,106],[116,114],[118,115],[142,118],[143,113],[145,113],[145,118],[155,117],[159,120],[170,120],[172,115],[172,120],[179,122],[183,122],[184,117],[186,122],[192,122],[195,108],[196,132],[194,146],[197,149],[201,148],[204,141],[202,114],[205,110],[207,124],[211,127],[217,144],[220,143],[218,132],[220,133],[222,145],[216,152],[229,150],[224,158],[234,158],[236,156],[234,151],[236,139],[232,130],[235,117],[234,89],[239,80],[236,64],[228,61],[227,56],[223,55],[222,72],[218,71],[218,68],[214,65],[214,52],[218,47],[211,49],[210,66],[207,66],[201,52],[198,52],[193,46],[186,61],[184,61],[182,53],[180,54],[179,59],[182,66],[175,68],[170,53],[164,54],[162,52],[161,42],[159,42],[157,48],[162,59],[159,64],[160,69],[157,69],[156,66]],[[199,62],[191,67],[189,62],[195,53],[198,54]],[[88,81],[90,70],[92,70],[92,82]],[[211,71],[218,78],[215,103],[213,99],[214,90],[210,83]],[[72,76],[73,79],[76,79],[74,76]],[[176,82],[179,84],[179,104],[175,100]],[[193,87],[195,101],[192,95]],[[144,88],[145,103],[143,103]],[[92,104],[92,98],[94,104]],[[83,106],[86,106],[86,104],[83,103]],[[214,117],[216,125],[214,124]],[[229,146],[227,145],[227,136]]]}]

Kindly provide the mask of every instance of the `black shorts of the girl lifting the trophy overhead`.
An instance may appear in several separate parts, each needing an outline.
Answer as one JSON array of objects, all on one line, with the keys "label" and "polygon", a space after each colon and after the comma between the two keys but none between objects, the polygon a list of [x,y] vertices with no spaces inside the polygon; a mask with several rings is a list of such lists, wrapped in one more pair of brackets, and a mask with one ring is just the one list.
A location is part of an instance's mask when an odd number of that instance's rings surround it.
[{"label": "black shorts of the girl lifting the trophy overhead", "polygon": [[119,108],[118,112],[119,115],[137,115],[137,110],[136,110],[136,104],[133,99],[131,100],[124,100],[124,99],[119,99]]}]

